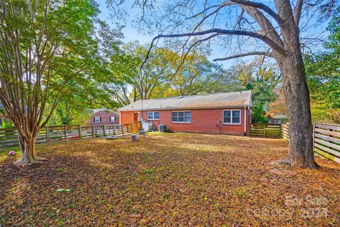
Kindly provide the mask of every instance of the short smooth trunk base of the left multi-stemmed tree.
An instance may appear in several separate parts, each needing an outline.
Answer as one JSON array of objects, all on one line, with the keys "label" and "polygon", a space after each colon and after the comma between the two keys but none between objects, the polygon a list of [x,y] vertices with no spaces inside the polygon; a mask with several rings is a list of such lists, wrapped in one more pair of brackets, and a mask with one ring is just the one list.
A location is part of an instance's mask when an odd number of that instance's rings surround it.
[{"label": "short smooth trunk base of the left multi-stemmed tree", "polygon": [[38,157],[35,154],[35,141],[37,140],[37,137],[33,138],[20,138],[19,137],[19,143],[21,146],[21,153],[23,156],[21,157],[21,160],[18,162],[15,162],[16,165],[30,165],[35,162],[39,162],[40,160],[43,160],[42,158]]}]

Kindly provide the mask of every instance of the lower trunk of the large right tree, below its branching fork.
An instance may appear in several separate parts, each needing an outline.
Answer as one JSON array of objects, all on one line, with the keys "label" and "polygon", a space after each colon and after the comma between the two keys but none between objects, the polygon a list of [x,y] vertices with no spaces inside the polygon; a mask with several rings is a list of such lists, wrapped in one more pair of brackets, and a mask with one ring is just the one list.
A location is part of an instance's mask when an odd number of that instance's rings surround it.
[{"label": "lower trunk of the large right tree, below its branching fork", "polygon": [[289,116],[289,153],[278,163],[316,169],[318,165],[314,161],[310,92],[300,49],[278,60],[278,65],[283,75],[283,91]]}]

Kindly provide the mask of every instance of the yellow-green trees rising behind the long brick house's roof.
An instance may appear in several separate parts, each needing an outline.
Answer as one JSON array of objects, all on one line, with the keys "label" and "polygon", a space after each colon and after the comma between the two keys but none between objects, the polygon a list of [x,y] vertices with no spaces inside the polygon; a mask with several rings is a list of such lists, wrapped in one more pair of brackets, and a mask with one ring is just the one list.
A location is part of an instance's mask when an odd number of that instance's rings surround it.
[{"label": "yellow-green trees rising behind the long brick house's roof", "polygon": [[[104,87],[120,106],[141,98],[212,92],[225,74],[220,65],[209,62],[203,55],[191,53],[182,62],[178,53],[167,48],[152,49],[149,60],[140,69],[147,49],[148,46],[136,42],[128,43],[123,55],[115,55],[111,60],[111,74],[115,77],[105,82]],[[113,70],[117,68],[120,70]]]}]

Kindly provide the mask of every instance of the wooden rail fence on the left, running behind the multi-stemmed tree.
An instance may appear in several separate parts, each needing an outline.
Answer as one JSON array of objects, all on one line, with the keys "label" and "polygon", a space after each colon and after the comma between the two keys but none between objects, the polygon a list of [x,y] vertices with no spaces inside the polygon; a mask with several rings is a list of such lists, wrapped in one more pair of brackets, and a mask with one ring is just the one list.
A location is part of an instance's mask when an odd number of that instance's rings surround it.
[{"label": "wooden rail fence on the left, running behind the multi-stemmed tree", "polygon": [[[124,135],[136,133],[140,128],[142,128],[140,121],[108,126],[46,126],[41,129],[36,143]],[[15,128],[0,128],[0,149],[18,145],[18,133]]]}]

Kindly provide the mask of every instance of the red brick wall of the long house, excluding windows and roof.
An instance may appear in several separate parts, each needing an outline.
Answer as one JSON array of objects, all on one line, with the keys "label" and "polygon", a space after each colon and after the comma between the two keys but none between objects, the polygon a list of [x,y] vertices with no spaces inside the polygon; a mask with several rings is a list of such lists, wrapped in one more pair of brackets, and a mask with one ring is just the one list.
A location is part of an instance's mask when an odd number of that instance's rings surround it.
[{"label": "red brick wall of the long house, excluding windows and roof", "polygon": [[[221,133],[232,135],[244,135],[244,108],[241,110],[241,124],[222,124]],[[166,125],[171,131],[196,132],[196,133],[218,133],[216,123],[222,120],[223,109],[191,109],[191,123],[171,123],[171,111],[159,111],[159,120],[152,121],[158,130],[159,124]],[[133,111],[120,113],[122,123],[133,121]],[[147,111],[143,111],[143,117],[147,120]],[[249,135],[249,109],[246,109],[246,134]]]}]

